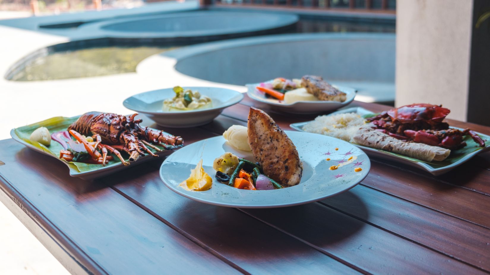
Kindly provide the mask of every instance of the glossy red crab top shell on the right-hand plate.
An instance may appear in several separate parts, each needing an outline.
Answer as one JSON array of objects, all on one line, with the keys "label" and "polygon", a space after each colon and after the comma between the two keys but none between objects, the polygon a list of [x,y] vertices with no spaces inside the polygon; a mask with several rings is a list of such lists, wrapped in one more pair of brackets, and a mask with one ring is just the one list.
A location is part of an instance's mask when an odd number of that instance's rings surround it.
[{"label": "glossy red crab top shell on the right-hand plate", "polygon": [[449,112],[451,112],[449,109],[441,106],[417,103],[395,108],[387,113],[392,119],[399,120],[401,123],[413,123],[417,120],[441,122]]}]

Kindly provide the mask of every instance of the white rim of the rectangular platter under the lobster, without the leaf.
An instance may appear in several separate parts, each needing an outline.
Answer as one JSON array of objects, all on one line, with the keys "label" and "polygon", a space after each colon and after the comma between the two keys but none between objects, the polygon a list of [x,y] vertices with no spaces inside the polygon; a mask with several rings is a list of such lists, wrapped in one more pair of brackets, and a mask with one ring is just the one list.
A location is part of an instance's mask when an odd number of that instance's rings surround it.
[{"label": "white rim of the rectangular platter under the lobster, without the leaf", "polygon": [[[43,149],[38,148],[36,146],[33,146],[32,144],[27,143],[24,140],[22,140],[21,138],[19,138],[15,134],[15,129],[10,130],[10,136],[15,141],[17,141],[17,142],[25,145],[25,147],[27,147],[29,149],[32,149],[32,150],[37,151],[39,153],[45,154],[45,155],[47,155],[49,157],[53,157],[53,158],[55,158],[57,160],[60,160],[59,158],[57,158],[53,154],[50,154],[48,152],[45,152]],[[52,141],[52,142],[55,142],[55,141]],[[179,148],[175,148],[173,150],[177,150],[177,149],[179,149]],[[162,156],[170,155],[170,154],[172,154],[172,152],[173,152],[172,150],[164,150],[162,152],[155,152],[155,155],[158,155],[158,156],[162,157]],[[106,166],[100,165],[100,168],[98,168],[96,170],[85,171],[85,172],[78,171],[78,169],[76,168],[76,166],[74,164],[72,164],[72,163],[69,163],[69,162],[63,161],[63,160],[60,160],[60,161],[63,162],[63,163],[65,163],[68,166],[68,168],[70,169],[70,176],[71,177],[80,178],[82,180],[87,180],[88,181],[88,180],[94,180],[94,179],[97,179],[97,178],[101,178],[101,177],[105,177],[105,176],[114,174],[114,173],[116,173],[118,171],[127,169],[129,167],[134,167],[135,165],[144,163],[144,162],[146,162],[148,160],[155,160],[155,158],[153,158],[152,156],[150,156],[150,155],[147,154],[145,156],[141,156],[138,160],[136,160],[134,162],[131,162],[131,164],[129,164],[127,166],[124,166],[123,163],[118,162],[118,163],[114,163],[114,164],[106,165]]]}]

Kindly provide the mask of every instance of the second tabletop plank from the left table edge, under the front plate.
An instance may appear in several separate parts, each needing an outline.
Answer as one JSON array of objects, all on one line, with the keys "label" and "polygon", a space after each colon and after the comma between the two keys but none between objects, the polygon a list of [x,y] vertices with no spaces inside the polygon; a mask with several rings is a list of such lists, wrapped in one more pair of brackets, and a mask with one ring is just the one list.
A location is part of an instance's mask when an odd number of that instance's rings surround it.
[{"label": "second tabletop plank from the left table edge, under the front plate", "polygon": [[[221,117],[213,125],[219,127],[220,120],[227,119]],[[208,132],[196,136],[194,133],[192,130],[179,135],[186,144],[216,135]],[[172,192],[162,183],[158,172],[159,165],[143,166],[137,174],[123,172],[105,179],[104,183],[209,251],[239,266],[245,273],[358,273],[327,253],[234,208],[206,205]]]}]

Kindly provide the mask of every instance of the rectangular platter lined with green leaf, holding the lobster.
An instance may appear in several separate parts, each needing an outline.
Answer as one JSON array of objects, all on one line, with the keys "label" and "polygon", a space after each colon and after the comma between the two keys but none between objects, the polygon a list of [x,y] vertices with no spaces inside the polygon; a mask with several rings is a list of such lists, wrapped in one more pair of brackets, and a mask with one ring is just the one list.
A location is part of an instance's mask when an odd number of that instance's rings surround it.
[{"label": "rectangular platter lined with green leaf, holding the lobster", "polygon": [[[44,127],[47,127],[48,130],[50,130],[49,131],[50,133],[52,133],[51,132],[52,129],[59,129],[59,127],[64,127],[69,122],[75,121],[78,117],[79,116],[53,117],[53,118],[50,118],[50,119],[47,119],[44,121],[40,121],[37,123],[33,123],[33,124],[30,124],[27,126],[14,128],[10,131],[10,136],[15,141],[25,145],[29,149],[32,149],[36,152],[48,155],[48,156],[53,157],[53,158],[56,158],[56,159],[60,160],[61,162],[65,163],[65,165],[67,165],[69,170],[70,170],[70,176],[75,177],[75,178],[80,178],[83,180],[94,180],[97,178],[105,177],[105,176],[111,175],[113,173],[116,173],[118,171],[121,171],[123,169],[127,169],[129,167],[133,167],[135,165],[142,164],[144,162],[147,162],[148,160],[157,159],[155,157],[150,156],[149,154],[146,154],[145,156],[141,156],[138,160],[131,162],[130,165],[124,166],[123,163],[118,158],[115,157],[114,160],[110,161],[109,164],[106,164],[105,166],[102,166],[102,165],[99,166],[96,164],[92,164],[93,166],[91,166],[91,168],[86,168],[86,169],[83,169],[83,171],[80,171],[80,169],[73,162],[68,162],[68,161],[65,161],[65,160],[58,158],[59,151],[54,152],[54,151],[50,150],[49,147],[46,147],[42,144],[39,144],[38,142],[34,142],[34,141],[30,141],[26,138],[22,138],[16,132],[16,129],[19,130],[19,129],[29,128],[29,127],[32,128],[32,127],[44,126]],[[168,133],[166,133],[166,134],[168,134]],[[58,144],[56,141],[52,140],[50,146],[53,146],[53,143]],[[58,146],[55,146],[55,147],[59,150]],[[176,149],[178,149],[178,148],[174,148],[173,150],[176,150]],[[164,151],[158,152],[158,151],[151,149],[151,151],[155,155],[158,155],[159,157],[168,156],[173,152],[173,150],[164,150]],[[122,154],[123,154],[123,156],[127,157],[127,154],[125,154],[125,153],[122,153]],[[111,154],[109,154],[109,155],[111,155]],[[127,160],[127,158],[125,158],[125,159]]]}]

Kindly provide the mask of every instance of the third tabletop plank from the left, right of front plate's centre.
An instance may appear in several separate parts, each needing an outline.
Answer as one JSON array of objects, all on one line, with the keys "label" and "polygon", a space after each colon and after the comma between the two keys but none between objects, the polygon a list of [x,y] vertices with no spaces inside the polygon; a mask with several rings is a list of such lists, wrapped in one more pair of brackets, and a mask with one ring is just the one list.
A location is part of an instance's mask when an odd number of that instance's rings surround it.
[{"label": "third tabletop plank from the left, right of front plate's centre", "polygon": [[371,274],[486,274],[318,203],[241,210]]}]

